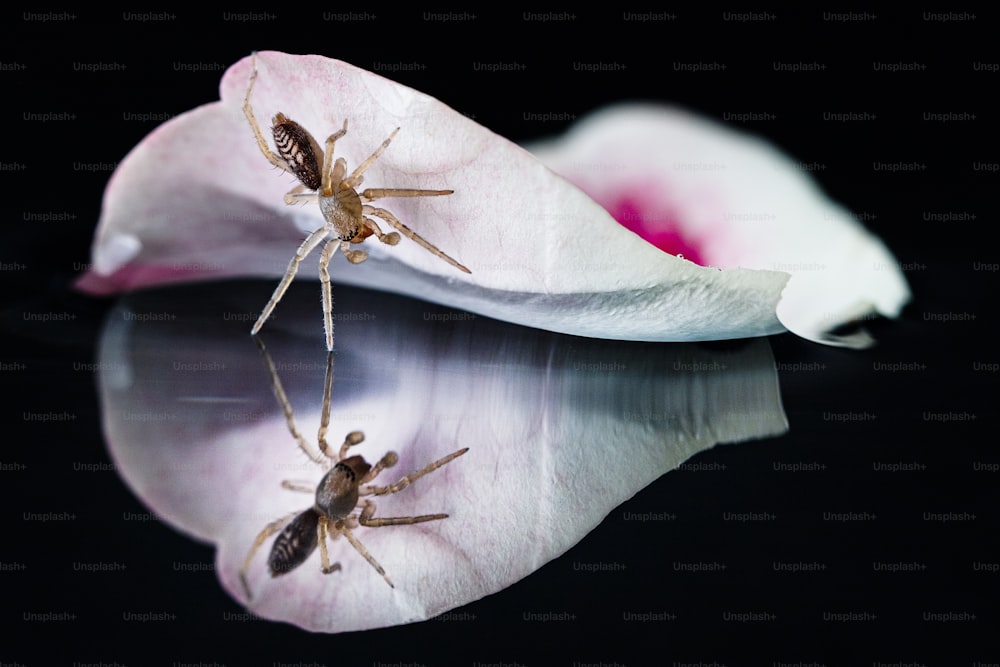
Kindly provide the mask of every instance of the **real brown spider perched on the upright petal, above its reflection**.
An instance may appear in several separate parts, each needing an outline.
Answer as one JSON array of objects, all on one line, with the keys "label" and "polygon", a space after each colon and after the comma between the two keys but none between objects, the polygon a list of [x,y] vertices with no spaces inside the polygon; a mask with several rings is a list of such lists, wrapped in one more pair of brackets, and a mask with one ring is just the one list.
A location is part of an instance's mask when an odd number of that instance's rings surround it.
[{"label": "real brown spider perched on the upright petal, above its reflection", "polygon": [[[358,165],[357,169],[347,173],[347,161],[344,158],[333,160],[333,145],[345,134],[347,134],[347,121],[344,126],[334,132],[326,139],[326,148],[320,148],[316,139],[309,134],[304,127],[296,123],[284,114],[278,113],[271,120],[271,132],[274,135],[274,145],[278,149],[277,153],[271,151],[264,140],[264,135],[254,118],[253,108],[250,106],[250,94],[253,92],[254,82],[257,80],[257,56],[254,54],[253,72],[250,74],[250,84],[247,86],[247,94],[243,98],[243,113],[250,122],[250,129],[253,130],[257,139],[257,146],[264,154],[268,162],[275,167],[295,176],[299,179],[299,185],[292,188],[285,195],[285,203],[302,204],[305,202],[319,203],[319,209],[323,213],[326,222],[322,227],[306,237],[299,249],[295,251],[295,256],[288,263],[285,276],[281,279],[278,287],[274,290],[271,300],[267,302],[260,317],[257,318],[251,334],[256,334],[264,326],[264,322],[271,316],[271,311],[278,305],[278,301],[284,296],[288,285],[299,270],[299,263],[306,256],[315,250],[320,243],[329,235],[333,238],[326,242],[319,258],[319,278],[323,287],[323,323],[326,328],[326,349],[333,349],[333,321],[331,311],[333,310],[333,299],[330,294],[330,273],[327,265],[330,263],[334,247],[340,244],[340,250],[352,264],[360,264],[368,258],[368,253],[364,250],[351,250],[352,243],[363,243],[371,235],[375,235],[379,241],[387,245],[399,243],[399,233],[392,232],[383,234],[378,224],[370,217],[375,216],[385,220],[390,225],[399,230],[404,236],[412,239],[428,251],[437,255],[452,266],[466,273],[471,273],[457,261],[444,254],[425,240],[412,229],[404,225],[389,211],[383,208],[370,206],[369,202],[383,197],[436,197],[439,195],[450,195],[454,190],[413,190],[407,188],[369,188],[362,192],[357,191],[363,180],[362,174],[378,159],[378,156],[388,147],[389,142],[399,132],[397,127],[389,135],[389,138],[382,142],[382,145],[375,149],[367,160]],[[305,192],[313,190],[313,192]]]}]

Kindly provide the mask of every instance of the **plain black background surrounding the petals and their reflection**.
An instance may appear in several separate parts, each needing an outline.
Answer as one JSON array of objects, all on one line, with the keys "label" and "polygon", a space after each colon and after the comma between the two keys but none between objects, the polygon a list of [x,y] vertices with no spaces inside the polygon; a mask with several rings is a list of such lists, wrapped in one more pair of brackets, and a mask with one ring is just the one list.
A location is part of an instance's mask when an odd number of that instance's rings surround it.
[{"label": "plain black background surrounding the petals and their reflection", "polygon": [[[1000,456],[990,444],[997,373],[988,370],[1000,362],[991,307],[1000,258],[989,233],[1000,178],[993,101],[1000,54],[992,13],[959,10],[950,17],[957,20],[945,21],[936,7],[917,5],[858,10],[862,16],[843,21],[831,8],[758,6],[750,20],[739,20],[744,7],[699,4],[670,8],[651,21],[628,20],[628,12],[645,11],[629,6],[548,17],[560,20],[504,8],[441,21],[432,15],[436,7],[349,11],[357,16],[292,6],[166,15],[160,7],[141,6],[125,12],[4,11],[0,380],[8,435],[0,454],[0,621],[6,637],[0,663],[1000,663]],[[146,12],[155,20],[144,20]],[[250,12],[251,20],[240,20]],[[906,268],[915,299],[900,320],[872,323],[879,345],[871,350],[773,337],[791,424],[787,435],[701,454],[696,462],[718,465],[661,478],[564,557],[456,610],[464,620],[333,636],[227,620],[242,608],[211,570],[171,567],[211,564],[210,545],[156,521],[122,521],[123,512],[146,510],[117,475],[74,470],[74,463],[108,461],[93,374],[73,369],[93,362],[111,301],[71,289],[89,262],[110,176],[77,171],[73,164],[117,162],[156,125],[125,120],[126,114],[177,114],[212,102],[224,69],[264,49],[321,53],[373,69],[515,141],[550,136],[569,124],[526,120],[535,118],[531,114],[579,116],[629,99],[674,102],[720,119],[770,114],[772,120],[742,125],[816,165],[826,192],[887,241]],[[690,72],[676,66],[699,62],[725,68]],[[91,72],[79,63],[124,68]],[[192,63],[205,67],[191,71]],[[399,63],[404,67],[389,71]],[[524,67],[488,72],[477,63]],[[592,72],[580,63],[614,66]],[[808,71],[781,71],[776,63],[803,63]],[[885,63],[906,69],[886,71]],[[874,119],[824,119],[844,112]],[[961,119],[926,115],[947,112]],[[65,119],[34,120],[45,113]],[[874,162],[924,166],[887,173]],[[69,215],[47,223],[27,215],[45,212]],[[932,215],[937,213],[956,215],[942,221]],[[26,319],[29,312],[71,318],[42,323]],[[886,370],[895,362],[912,370]],[[50,411],[73,418],[44,424],[24,418]],[[824,417],[845,412],[875,418]],[[939,420],[952,413],[960,419]],[[825,469],[784,472],[775,470],[776,462],[815,462]],[[886,472],[876,470],[877,462],[919,465]],[[766,511],[777,518],[759,525],[725,522],[726,511]],[[76,518],[27,521],[25,512]],[[676,519],[629,522],[623,512],[670,512]],[[823,520],[824,512],[877,518],[832,522]],[[942,512],[964,520],[925,515]],[[127,568],[74,571],[80,561]],[[574,563],[601,561],[627,569],[574,569]],[[727,568],[692,574],[673,568],[680,561]],[[826,568],[777,572],[776,561]],[[918,567],[889,573],[874,566],[884,562]],[[138,623],[125,620],[126,611],[163,611],[173,618]],[[538,611],[573,618],[525,620]],[[623,612],[629,611],[667,617],[627,621]],[[765,611],[774,618],[734,622],[724,619],[727,611]],[[65,620],[34,620],[49,612]],[[835,621],[824,612],[868,616]],[[935,620],[942,613],[953,614],[952,620]]]}]

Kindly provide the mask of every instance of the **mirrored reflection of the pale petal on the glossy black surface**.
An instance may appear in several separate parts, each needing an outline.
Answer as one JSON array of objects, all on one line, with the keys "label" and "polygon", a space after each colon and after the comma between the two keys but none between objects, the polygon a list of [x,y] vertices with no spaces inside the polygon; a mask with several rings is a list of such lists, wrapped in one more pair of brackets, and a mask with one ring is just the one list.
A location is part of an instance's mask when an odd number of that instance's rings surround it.
[{"label": "mirrored reflection of the pale petal on the glossy black surface", "polygon": [[[311,502],[283,479],[321,471],[288,434],[246,334],[265,290],[211,285],[126,299],[105,329],[100,377],[106,437],[152,511],[218,545],[236,573],[264,524]],[[197,298],[192,298],[196,296]],[[716,443],[783,433],[766,340],[711,351],[581,339],[515,327],[398,297],[337,290],[331,440],[361,429],[369,461],[393,449],[403,474],[469,452],[379,514],[446,512],[419,526],[358,529],[396,588],[343,540],[278,579],[250,571],[255,613],[339,632],[429,618],[509,586],[557,557],[614,507]],[[312,441],[322,341],[311,288],[293,287],[267,334],[300,430]],[[212,304],[212,305],[204,305]]]}]

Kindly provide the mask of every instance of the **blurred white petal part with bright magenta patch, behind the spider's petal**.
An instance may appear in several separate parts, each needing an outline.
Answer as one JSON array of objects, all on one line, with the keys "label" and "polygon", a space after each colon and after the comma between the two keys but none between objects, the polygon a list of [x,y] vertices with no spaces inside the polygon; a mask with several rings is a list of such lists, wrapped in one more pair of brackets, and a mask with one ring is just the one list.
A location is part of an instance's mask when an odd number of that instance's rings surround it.
[{"label": "blurred white petal part with bright magenta patch, behind the spider's petal", "polygon": [[837,326],[896,317],[909,301],[885,246],[767,143],[652,105],[606,109],[532,152],[668,252],[723,269],[785,271],[777,307],[789,330],[861,347]]}]

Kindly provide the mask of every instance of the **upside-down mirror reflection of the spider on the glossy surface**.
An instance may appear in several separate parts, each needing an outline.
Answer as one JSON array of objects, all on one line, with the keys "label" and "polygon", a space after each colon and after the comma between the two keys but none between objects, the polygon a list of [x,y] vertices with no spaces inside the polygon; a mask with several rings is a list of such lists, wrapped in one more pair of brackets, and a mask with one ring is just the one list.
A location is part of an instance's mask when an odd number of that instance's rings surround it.
[{"label": "upside-down mirror reflection of the spider on the glossy surface", "polygon": [[[441,466],[458,458],[469,450],[468,447],[452,452],[448,456],[434,461],[430,465],[424,466],[420,470],[405,475],[394,484],[387,486],[376,486],[369,484],[380,472],[386,468],[396,465],[399,456],[395,452],[388,452],[379,459],[374,466],[369,464],[362,456],[347,456],[347,450],[354,445],[361,443],[365,436],[361,431],[352,431],[347,434],[344,444],[340,450],[335,452],[326,441],[327,427],[330,425],[330,398],[333,387],[333,353],[327,353],[326,362],[326,388],[323,392],[323,413],[320,419],[317,449],[299,433],[295,425],[295,417],[292,413],[292,406],[288,402],[288,397],[278,379],[277,370],[271,357],[258,340],[261,353],[267,362],[268,372],[271,376],[271,384],[274,395],[277,397],[281,408],[285,413],[285,421],[288,430],[298,441],[299,447],[306,456],[323,466],[326,474],[320,480],[319,486],[301,482],[283,481],[281,485],[292,491],[304,491],[315,493],[316,501],[313,506],[303,512],[295,512],[288,516],[272,521],[264,527],[254,540],[250,552],[247,554],[243,567],[240,568],[240,583],[243,585],[243,592],[247,601],[250,600],[250,585],[247,582],[247,571],[254,555],[260,549],[264,541],[271,535],[281,531],[281,534],[274,540],[271,547],[271,554],[268,556],[267,565],[272,577],[285,574],[294,570],[305,562],[305,560],[319,546],[319,555],[322,562],[323,573],[329,574],[340,569],[340,563],[330,564],[330,554],[327,550],[326,538],[336,539],[343,535],[351,543],[359,554],[371,564],[385,579],[386,583],[393,586],[392,581],[386,575],[385,570],[378,564],[378,561],[363,544],[351,532],[358,526],[378,528],[381,526],[400,526],[411,523],[423,523],[425,521],[438,521],[448,518],[447,514],[423,514],[420,516],[401,517],[378,517],[375,518],[375,503],[365,496],[382,496],[390,493],[402,491],[411,483],[420,479],[424,475],[433,472]],[[355,510],[360,510],[355,513]]]}]

